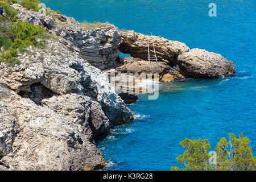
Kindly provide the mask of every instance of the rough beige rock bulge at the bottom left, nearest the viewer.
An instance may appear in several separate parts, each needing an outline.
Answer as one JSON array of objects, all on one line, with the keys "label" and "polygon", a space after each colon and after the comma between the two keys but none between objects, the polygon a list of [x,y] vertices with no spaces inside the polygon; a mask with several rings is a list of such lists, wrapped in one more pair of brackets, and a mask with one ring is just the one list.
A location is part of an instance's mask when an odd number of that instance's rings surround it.
[{"label": "rough beige rock bulge at the bottom left, nearest the viewer", "polygon": [[[87,122],[73,121],[15,93],[5,103],[19,127],[13,143],[7,143],[12,150],[0,159],[3,166],[10,170],[82,170],[105,166]],[[5,115],[1,118],[7,119]]]}]

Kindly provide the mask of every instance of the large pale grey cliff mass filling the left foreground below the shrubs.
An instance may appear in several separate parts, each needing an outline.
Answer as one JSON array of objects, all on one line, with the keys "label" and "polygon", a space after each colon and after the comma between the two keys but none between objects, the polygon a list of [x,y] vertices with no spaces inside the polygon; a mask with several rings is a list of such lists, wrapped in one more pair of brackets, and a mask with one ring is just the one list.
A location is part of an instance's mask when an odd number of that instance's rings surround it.
[{"label": "large pale grey cliff mass filling the left foreground below the shrubs", "polygon": [[105,167],[94,138],[133,113],[100,69],[63,44],[27,51],[21,65],[0,65],[0,169]]}]

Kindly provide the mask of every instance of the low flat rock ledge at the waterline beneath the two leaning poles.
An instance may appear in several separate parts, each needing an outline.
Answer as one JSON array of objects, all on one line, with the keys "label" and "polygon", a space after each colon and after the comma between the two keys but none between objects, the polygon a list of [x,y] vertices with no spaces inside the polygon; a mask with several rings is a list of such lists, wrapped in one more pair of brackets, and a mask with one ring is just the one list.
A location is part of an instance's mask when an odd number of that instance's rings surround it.
[{"label": "low flat rock ledge at the waterline beneath the two leaning poles", "polygon": [[159,63],[159,69],[156,62],[151,62],[150,67],[148,61],[135,57],[120,58],[118,61],[115,67],[105,69],[103,72],[108,75],[110,82],[126,104],[137,101],[137,94],[156,91],[158,88],[154,85],[158,85],[159,81],[170,82],[185,79],[176,69],[164,62]]}]

